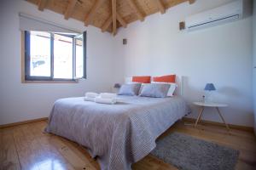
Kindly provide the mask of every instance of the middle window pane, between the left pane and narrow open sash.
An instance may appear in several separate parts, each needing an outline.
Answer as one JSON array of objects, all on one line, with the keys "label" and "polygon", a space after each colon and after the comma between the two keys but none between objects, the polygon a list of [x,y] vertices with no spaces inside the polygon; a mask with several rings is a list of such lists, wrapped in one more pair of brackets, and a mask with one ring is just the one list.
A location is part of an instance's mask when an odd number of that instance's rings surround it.
[{"label": "middle window pane, between the left pane and narrow open sash", "polygon": [[73,78],[73,38],[54,35],[54,78]]}]

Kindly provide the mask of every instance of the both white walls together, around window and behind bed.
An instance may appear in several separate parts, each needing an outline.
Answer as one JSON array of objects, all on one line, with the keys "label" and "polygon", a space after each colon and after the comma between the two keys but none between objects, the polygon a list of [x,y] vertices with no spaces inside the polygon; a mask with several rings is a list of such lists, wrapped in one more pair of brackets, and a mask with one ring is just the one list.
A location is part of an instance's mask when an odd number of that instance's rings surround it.
[{"label": "both white walls together, around window and behind bed", "polygon": [[[113,82],[122,82],[124,77],[176,73],[188,77],[185,98],[189,102],[201,99],[205,84],[214,82],[218,91],[212,97],[230,105],[222,109],[226,121],[253,126],[252,18],[201,31],[178,31],[178,22],[186,16],[227,2],[230,0],[183,3],[166,14],[153,14],[143,22],[120,29],[113,38],[95,27],[86,28],[79,21],[64,20],[61,14],[40,12],[31,3],[3,0],[0,124],[49,116],[55,99],[81,96],[86,91],[109,91]],[[86,30],[88,79],[75,84],[22,84],[19,12]],[[122,45],[122,38],[128,39],[127,45]],[[190,116],[197,116],[197,108],[193,107]],[[220,121],[210,110],[203,118]]]}]

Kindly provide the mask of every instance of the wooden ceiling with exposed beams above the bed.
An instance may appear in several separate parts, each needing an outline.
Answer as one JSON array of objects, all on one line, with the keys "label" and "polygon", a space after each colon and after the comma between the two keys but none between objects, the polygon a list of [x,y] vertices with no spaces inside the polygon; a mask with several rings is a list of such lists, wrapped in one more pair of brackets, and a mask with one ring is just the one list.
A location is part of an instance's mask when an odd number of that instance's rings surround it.
[{"label": "wooden ceiling with exposed beams above the bed", "polygon": [[63,14],[68,20],[73,18],[84,22],[84,26],[96,26],[102,32],[113,35],[120,26],[126,27],[133,21],[143,21],[149,14],[166,13],[179,3],[195,3],[195,0],[26,0],[44,8]]}]

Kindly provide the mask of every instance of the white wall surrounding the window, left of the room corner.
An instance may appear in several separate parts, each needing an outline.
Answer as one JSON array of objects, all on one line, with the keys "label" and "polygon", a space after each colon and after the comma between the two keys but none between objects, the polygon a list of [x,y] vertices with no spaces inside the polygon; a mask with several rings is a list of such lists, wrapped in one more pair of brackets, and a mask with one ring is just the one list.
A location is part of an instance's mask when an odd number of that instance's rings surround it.
[{"label": "white wall surrounding the window, left of the room corner", "polygon": [[[87,76],[79,83],[22,84],[19,12],[32,14],[63,26],[87,31]],[[113,38],[82,22],[64,20],[63,15],[25,1],[3,0],[0,5],[0,124],[49,116],[55,101],[82,96],[86,91],[109,91],[113,86]]]}]

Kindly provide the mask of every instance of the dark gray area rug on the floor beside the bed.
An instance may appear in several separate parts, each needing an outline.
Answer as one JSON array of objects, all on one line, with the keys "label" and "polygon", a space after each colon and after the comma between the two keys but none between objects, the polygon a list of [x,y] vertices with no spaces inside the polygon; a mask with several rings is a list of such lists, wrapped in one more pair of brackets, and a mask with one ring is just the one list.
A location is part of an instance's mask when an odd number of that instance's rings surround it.
[{"label": "dark gray area rug on the floor beside the bed", "polygon": [[239,156],[238,150],[183,133],[171,133],[156,144],[151,154],[181,170],[233,170]]}]

